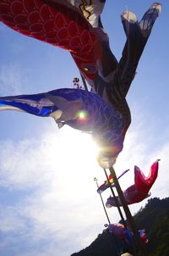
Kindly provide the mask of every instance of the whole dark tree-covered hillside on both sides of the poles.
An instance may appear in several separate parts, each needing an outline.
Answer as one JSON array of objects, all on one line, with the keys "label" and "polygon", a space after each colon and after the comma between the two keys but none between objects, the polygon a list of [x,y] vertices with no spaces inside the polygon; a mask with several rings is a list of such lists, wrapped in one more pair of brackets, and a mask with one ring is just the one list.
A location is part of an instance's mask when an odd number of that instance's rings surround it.
[{"label": "whole dark tree-covered hillside on both sides of the poles", "polygon": [[[149,242],[146,248],[150,256],[169,255],[169,198],[151,198],[144,208],[134,215],[138,229],[145,229]],[[116,248],[127,252],[126,244],[120,244],[116,237],[104,230],[89,247],[71,256],[113,256]],[[128,251],[129,252],[129,251]],[[132,253],[132,252],[130,252]]]}]

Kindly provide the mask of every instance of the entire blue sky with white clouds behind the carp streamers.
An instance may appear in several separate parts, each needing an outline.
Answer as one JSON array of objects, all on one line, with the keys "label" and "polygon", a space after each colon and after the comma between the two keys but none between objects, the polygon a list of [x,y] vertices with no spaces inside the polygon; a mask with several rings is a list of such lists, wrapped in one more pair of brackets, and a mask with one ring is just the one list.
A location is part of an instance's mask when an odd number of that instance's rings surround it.
[{"label": "entire blue sky with white clouds behind the carp streamers", "polygon": [[[151,1],[106,1],[102,23],[119,59],[125,43],[120,14],[128,8],[141,19]],[[134,183],[134,164],[147,175],[161,159],[151,197],[168,197],[169,34],[167,0],[162,0],[137,75],[128,92],[132,124],[115,168],[123,189]],[[0,96],[72,87],[79,76],[68,52],[0,25]],[[0,113],[0,253],[3,256],[66,256],[85,248],[101,232],[106,217],[95,192],[105,176],[95,160],[90,136],[57,129],[52,119],[18,112]],[[105,192],[103,198],[109,196]],[[147,202],[130,206],[132,214]],[[112,223],[120,218],[108,209]]]}]

